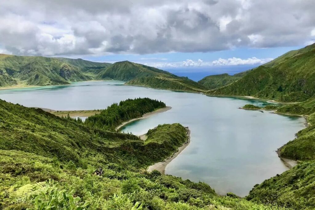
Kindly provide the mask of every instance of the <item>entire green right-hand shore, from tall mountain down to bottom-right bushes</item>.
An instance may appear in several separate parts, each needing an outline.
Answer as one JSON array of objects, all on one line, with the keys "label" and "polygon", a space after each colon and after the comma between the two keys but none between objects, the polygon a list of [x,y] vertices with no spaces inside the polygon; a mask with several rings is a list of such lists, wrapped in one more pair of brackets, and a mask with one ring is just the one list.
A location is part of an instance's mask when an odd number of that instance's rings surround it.
[{"label": "entire green right-hand shore, from tall mountain down to bottom-right bushes", "polygon": [[[247,200],[278,205],[292,209],[315,209],[315,99],[314,61],[315,44],[290,51],[277,59],[248,71],[237,82],[209,91],[211,94],[252,95],[280,101],[301,103],[246,109],[271,109],[279,114],[303,115],[308,127],[299,131],[296,138],[278,149],[282,158],[298,160],[292,169],[257,184]],[[277,88],[278,86],[278,88]]]}]

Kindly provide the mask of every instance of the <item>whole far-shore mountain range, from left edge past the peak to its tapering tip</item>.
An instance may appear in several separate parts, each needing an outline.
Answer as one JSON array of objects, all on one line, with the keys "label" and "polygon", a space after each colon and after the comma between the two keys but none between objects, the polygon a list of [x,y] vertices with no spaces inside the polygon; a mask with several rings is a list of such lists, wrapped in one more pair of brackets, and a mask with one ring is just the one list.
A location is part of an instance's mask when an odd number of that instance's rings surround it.
[{"label": "whole far-shore mountain range, from left edge past the peak to its tapering tip", "polygon": [[202,92],[203,85],[151,66],[121,61],[114,64],[82,59],[0,55],[0,86],[61,85],[86,80],[121,80],[151,88]]}]

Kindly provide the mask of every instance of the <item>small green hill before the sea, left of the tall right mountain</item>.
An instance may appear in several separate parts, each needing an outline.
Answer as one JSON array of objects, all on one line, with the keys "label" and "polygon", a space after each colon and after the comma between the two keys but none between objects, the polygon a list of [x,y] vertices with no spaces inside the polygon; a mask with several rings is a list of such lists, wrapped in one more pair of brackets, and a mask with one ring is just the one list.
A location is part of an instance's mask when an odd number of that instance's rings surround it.
[{"label": "small green hill before the sea, left of the tall right mountain", "polygon": [[217,88],[222,88],[228,84],[231,84],[232,82],[239,80],[240,78],[241,76],[231,76],[225,73],[204,77],[203,79],[199,80],[198,83],[202,84],[209,90],[213,90]]}]

